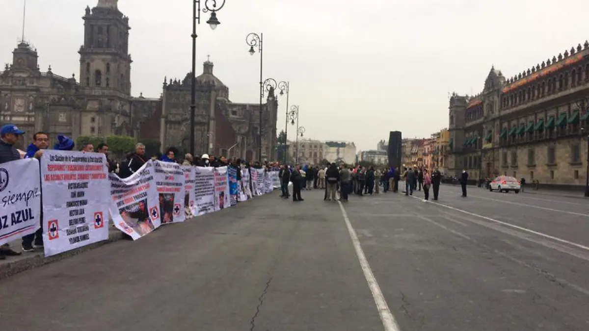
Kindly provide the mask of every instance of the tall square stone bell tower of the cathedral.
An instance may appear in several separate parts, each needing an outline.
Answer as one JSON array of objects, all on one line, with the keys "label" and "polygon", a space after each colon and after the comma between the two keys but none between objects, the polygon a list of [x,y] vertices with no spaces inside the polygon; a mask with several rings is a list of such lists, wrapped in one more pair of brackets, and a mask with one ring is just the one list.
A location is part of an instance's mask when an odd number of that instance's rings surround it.
[{"label": "tall square stone bell tower of the cathedral", "polygon": [[117,8],[118,0],[98,0],[86,7],[84,45],[80,48],[80,82],[92,90],[131,94],[129,18]]}]

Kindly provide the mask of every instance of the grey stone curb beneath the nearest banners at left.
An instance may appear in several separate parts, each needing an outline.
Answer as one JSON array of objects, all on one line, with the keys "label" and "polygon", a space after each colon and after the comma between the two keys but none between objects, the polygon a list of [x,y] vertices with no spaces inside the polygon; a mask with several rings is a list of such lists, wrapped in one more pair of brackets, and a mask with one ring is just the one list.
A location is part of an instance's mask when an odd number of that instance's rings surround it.
[{"label": "grey stone curb beneath the nearest banners at left", "polygon": [[[0,264],[0,280],[8,278],[10,276],[14,276],[17,273],[21,273],[26,270],[35,269],[37,267],[44,266],[45,264],[57,262],[68,257],[78,255],[84,251],[95,249],[105,244],[113,243],[114,241],[123,239],[123,237],[123,232],[121,232],[118,229],[111,229],[110,231],[108,231],[107,240],[99,241],[98,243],[90,244],[88,246],[80,247],[78,249],[64,251],[64,253],[57,254],[54,256],[45,257],[45,254],[42,252],[24,253],[28,254],[28,256],[15,261],[6,261]],[[8,259],[11,259],[11,257],[8,257]]]}]

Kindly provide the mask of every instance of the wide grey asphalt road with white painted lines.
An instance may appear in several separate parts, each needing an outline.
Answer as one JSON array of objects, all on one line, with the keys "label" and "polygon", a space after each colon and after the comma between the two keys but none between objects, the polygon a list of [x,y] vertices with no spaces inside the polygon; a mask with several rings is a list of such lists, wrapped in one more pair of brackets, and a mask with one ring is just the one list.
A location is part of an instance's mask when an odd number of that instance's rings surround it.
[{"label": "wide grey asphalt road with white painted lines", "polygon": [[264,196],[0,280],[0,329],[588,330],[585,201],[459,195]]}]

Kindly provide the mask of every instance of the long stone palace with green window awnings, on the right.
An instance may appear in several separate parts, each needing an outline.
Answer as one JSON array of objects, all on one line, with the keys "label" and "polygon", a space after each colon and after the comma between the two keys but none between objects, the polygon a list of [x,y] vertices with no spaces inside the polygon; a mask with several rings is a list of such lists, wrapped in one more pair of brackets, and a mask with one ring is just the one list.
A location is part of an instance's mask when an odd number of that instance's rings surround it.
[{"label": "long stone palace with green window awnings, on the right", "polygon": [[448,171],[585,184],[589,42],[513,78],[491,68],[483,91],[449,102]]}]

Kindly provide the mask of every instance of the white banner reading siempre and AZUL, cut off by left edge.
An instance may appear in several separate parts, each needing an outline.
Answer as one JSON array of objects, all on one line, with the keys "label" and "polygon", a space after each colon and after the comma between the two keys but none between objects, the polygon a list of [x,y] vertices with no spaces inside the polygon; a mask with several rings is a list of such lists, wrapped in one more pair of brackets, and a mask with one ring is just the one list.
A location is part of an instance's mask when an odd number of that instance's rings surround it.
[{"label": "white banner reading siempre and AZUL, cut off by left edge", "polygon": [[0,164],[0,245],[41,227],[41,177],[36,158]]}]

